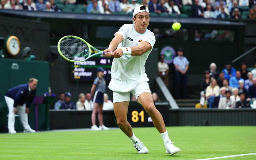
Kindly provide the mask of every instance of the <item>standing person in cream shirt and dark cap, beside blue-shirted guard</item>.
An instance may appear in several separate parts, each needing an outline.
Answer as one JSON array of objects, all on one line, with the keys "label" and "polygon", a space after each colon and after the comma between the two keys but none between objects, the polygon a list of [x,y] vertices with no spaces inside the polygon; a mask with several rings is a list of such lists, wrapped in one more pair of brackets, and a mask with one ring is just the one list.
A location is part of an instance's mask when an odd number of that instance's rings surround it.
[{"label": "standing person in cream shirt and dark cap, beside blue-shirted guard", "polygon": [[168,74],[169,74],[169,66],[164,61],[164,56],[160,56],[160,61],[158,62],[158,75],[163,79],[166,87],[169,88]]}]

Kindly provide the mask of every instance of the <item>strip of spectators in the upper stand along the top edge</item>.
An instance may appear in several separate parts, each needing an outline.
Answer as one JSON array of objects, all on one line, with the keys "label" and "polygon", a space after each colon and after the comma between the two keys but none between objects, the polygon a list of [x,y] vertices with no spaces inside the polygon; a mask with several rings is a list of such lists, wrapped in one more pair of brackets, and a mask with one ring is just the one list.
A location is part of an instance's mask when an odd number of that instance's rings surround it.
[{"label": "strip of spectators in the upper stand along the top edge", "polygon": [[197,18],[256,18],[255,0],[1,0],[0,9],[129,14],[145,5],[151,15]]}]

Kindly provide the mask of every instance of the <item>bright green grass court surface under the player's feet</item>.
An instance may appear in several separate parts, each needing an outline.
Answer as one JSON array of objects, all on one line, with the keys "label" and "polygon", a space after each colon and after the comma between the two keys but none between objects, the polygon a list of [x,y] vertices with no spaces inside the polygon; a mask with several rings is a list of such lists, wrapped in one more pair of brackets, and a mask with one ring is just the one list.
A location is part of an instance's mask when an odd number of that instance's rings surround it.
[{"label": "bright green grass court surface under the player's feet", "polygon": [[[137,154],[119,129],[0,134],[0,159],[202,159],[256,152],[256,127],[168,127],[181,151],[165,153],[157,130],[133,128],[149,149]],[[256,155],[226,159],[256,159]]]}]

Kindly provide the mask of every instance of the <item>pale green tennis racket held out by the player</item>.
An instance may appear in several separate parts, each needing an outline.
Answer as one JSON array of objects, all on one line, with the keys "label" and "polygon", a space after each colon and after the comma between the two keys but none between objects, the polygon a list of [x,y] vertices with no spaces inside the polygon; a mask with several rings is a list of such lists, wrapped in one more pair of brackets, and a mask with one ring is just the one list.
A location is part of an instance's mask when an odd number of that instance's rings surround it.
[{"label": "pale green tennis racket held out by the player", "polygon": [[[91,48],[98,53],[91,54]],[[89,58],[104,54],[103,51],[94,48],[88,42],[77,36],[64,36],[58,42],[59,54],[70,62],[83,62]]]}]

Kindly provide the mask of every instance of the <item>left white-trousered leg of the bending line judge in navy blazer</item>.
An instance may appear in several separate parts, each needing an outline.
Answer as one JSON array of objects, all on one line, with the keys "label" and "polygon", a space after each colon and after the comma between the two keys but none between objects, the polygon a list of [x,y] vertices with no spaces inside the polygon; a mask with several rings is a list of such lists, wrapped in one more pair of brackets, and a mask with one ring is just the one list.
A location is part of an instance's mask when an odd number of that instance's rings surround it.
[{"label": "left white-trousered leg of the bending line judge in navy blazer", "polygon": [[7,104],[9,114],[8,114],[8,130],[9,133],[16,133],[14,130],[14,123],[15,123],[15,113],[13,109],[14,100],[10,97],[5,96],[5,102]]}]

